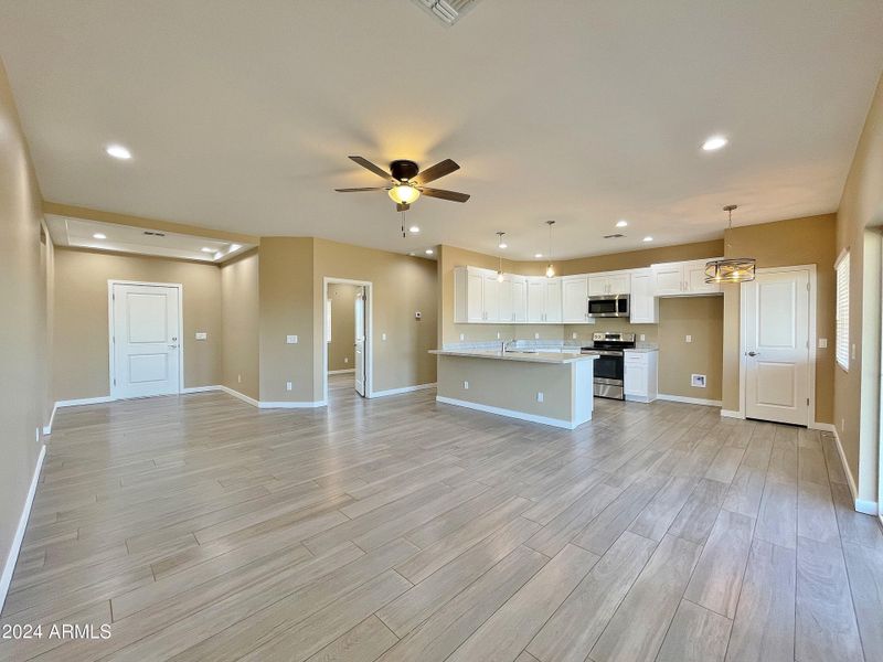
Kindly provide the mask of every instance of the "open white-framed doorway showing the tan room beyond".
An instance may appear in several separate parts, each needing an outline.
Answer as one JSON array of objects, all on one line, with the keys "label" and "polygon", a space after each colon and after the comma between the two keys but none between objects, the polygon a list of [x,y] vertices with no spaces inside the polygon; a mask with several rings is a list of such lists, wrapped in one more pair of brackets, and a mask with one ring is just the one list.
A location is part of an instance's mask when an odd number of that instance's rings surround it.
[{"label": "open white-framed doorway showing the tan room beyond", "polygon": [[372,284],[326,277],[322,284],[322,392],[372,395]]}]

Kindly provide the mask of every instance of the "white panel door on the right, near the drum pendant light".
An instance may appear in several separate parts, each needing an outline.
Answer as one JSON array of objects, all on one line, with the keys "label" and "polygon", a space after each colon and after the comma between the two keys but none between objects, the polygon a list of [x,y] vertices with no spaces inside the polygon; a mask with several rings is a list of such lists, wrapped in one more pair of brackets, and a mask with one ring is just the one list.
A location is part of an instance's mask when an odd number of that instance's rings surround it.
[{"label": "white panel door on the right, near the drum pendant light", "polygon": [[809,425],[809,271],[758,273],[745,297],[745,415]]}]

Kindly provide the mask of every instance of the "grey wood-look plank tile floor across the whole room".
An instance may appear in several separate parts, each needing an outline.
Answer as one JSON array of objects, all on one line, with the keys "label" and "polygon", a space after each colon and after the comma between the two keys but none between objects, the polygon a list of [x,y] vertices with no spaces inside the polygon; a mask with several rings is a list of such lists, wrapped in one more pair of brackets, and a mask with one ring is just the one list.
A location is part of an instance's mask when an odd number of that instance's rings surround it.
[{"label": "grey wood-look plank tile floor across the whole room", "polygon": [[598,401],[575,431],[221,393],[62,409],[4,660],[883,659],[883,536],[825,434]]}]

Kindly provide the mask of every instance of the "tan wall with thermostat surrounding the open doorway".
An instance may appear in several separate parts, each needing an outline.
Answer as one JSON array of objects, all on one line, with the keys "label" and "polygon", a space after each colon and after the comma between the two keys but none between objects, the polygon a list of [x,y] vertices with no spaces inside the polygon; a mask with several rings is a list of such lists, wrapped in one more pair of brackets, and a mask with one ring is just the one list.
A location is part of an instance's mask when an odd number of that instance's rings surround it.
[{"label": "tan wall with thermostat surrounding the open doorway", "polygon": [[[263,250],[263,241],[262,241]],[[373,284],[374,391],[387,391],[436,381],[436,265],[422,257],[361,248],[316,239],[313,268],[313,335],[322,338],[323,278]],[[414,313],[419,311],[422,319]],[[386,333],[386,340],[382,334]],[[315,345],[313,397],[322,397],[322,345]]]}]

